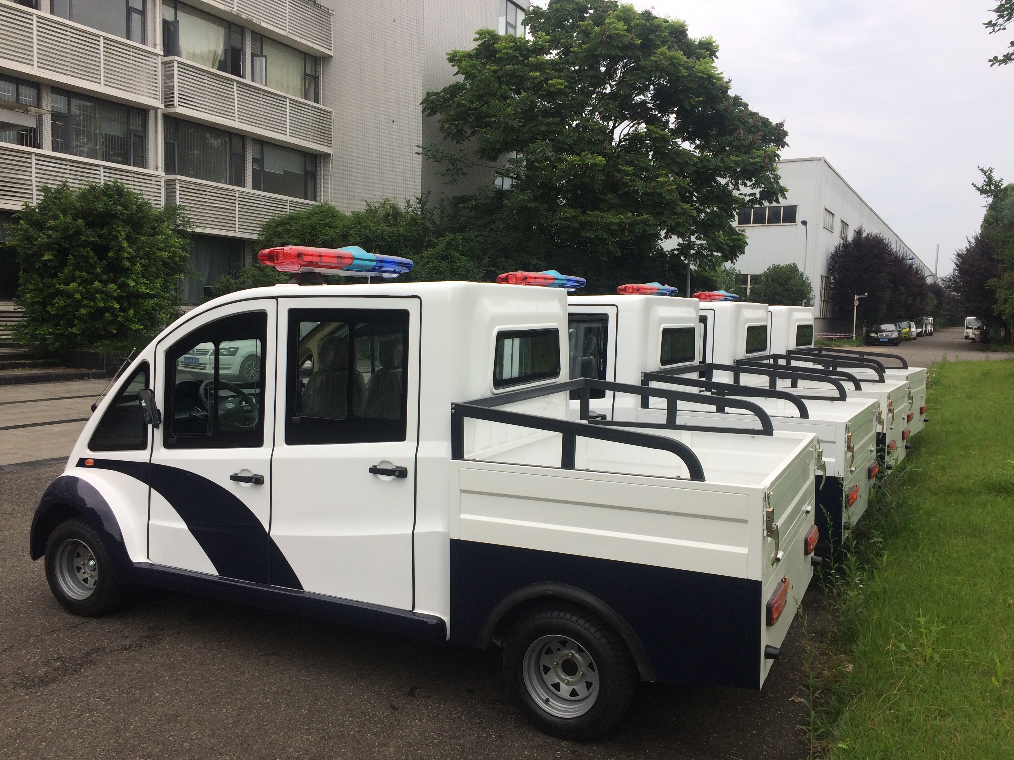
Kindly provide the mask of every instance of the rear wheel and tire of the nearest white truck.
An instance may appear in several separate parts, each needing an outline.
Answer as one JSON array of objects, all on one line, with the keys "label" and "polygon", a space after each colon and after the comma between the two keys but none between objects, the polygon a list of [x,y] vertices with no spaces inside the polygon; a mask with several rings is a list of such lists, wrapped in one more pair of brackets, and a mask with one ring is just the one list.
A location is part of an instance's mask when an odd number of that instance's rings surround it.
[{"label": "rear wheel and tire of the nearest white truck", "polygon": [[[567,666],[574,671],[569,677]],[[529,720],[547,734],[578,742],[623,720],[640,683],[624,640],[580,608],[541,609],[520,619],[507,637],[503,668],[507,688]],[[597,679],[588,680],[591,673]]]}]

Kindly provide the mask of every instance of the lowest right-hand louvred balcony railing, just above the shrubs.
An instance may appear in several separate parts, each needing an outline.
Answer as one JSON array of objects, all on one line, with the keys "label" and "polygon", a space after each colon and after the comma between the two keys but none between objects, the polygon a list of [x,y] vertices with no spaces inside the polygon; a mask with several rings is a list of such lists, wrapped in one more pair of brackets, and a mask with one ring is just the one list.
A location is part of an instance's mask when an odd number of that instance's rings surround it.
[{"label": "lowest right-hand louvred balcony railing, just above the shrubs", "polygon": [[185,207],[198,232],[256,237],[272,217],[314,206],[313,201],[243,189],[203,179],[165,177],[165,203]]}]

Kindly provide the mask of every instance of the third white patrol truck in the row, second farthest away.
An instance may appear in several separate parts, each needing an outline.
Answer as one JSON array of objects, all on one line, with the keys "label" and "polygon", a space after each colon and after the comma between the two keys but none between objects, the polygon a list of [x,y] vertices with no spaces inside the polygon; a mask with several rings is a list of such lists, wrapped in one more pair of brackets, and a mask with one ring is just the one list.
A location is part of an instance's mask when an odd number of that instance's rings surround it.
[{"label": "third white patrol truck in the row, second farthest away", "polygon": [[[769,353],[769,329],[772,316],[767,304],[737,303],[731,301],[711,301],[701,304],[701,320],[707,335],[702,356],[716,364],[737,365],[744,368],[785,366],[794,355]],[[709,359],[714,357],[714,359]],[[826,360],[814,357],[806,367],[810,372],[823,373],[828,377],[849,380],[844,383],[849,398],[873,398],[880,404],[877,432],[878,459],[886,469],[904,458],[904,442],[909,438],[906,417],[909,413],[910,387],[907,381],[886,380],[882,373],[874,372],[873,378],[864,380],[851,374],[851,367],[830,369],[831,362],[849,364],[846,360]],[[868,363],[856,363],[867,367]],[[797,369],[803,369],[798,367]],[[725,373],[727,379],[731,373]],[[847,377],[843,377],[843,375]],[[852,379],[850,379],[852,378]],[[769,385],[763,377],[746,377],[744,383]],[[780,379],[777,387],[807,388],[808,392],[818,392],[816,388],[826,385],[809,380]],[[856,386],[859,387],[856,387]],[[826,392],[824,390],[823,392]]]}]

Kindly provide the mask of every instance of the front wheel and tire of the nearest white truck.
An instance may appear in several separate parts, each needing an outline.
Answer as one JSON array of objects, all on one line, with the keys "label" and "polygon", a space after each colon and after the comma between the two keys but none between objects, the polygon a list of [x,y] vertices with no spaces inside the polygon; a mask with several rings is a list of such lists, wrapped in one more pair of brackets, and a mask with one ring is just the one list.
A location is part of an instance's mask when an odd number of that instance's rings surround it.
[{"label": "front wheel and tire of the nearest white truck", "polygon": [[50,591],[69,612],[98,617],[127,602],[123,583],[101,534],[81,518],[57,526],[46,542],[46,580]]}]

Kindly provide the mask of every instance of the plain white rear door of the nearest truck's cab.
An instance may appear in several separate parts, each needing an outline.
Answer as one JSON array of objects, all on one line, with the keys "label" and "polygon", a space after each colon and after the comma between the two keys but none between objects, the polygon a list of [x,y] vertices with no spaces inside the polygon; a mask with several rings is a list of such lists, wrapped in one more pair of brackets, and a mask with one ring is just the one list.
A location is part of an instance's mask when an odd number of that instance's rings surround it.
[{"label": "plain white rear door of the nearest truck's cab", "polygon": [[413,608],[420,313],[280,300],[271,535],[306,591]]}]

